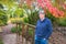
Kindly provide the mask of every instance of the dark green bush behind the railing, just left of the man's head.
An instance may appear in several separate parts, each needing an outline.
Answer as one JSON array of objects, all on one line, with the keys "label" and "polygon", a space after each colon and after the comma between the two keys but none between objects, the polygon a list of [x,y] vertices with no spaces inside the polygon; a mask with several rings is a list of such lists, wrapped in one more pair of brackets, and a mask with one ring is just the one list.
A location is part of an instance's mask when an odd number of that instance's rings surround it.
[{"label": "dark green bush behind the railing, just left of the man's head", "polygon": [[31,11],[31,14],[29,14],[29,24],[33,24],[35,25],[36,24],[36,21],[38,19],[38,11]]}]

